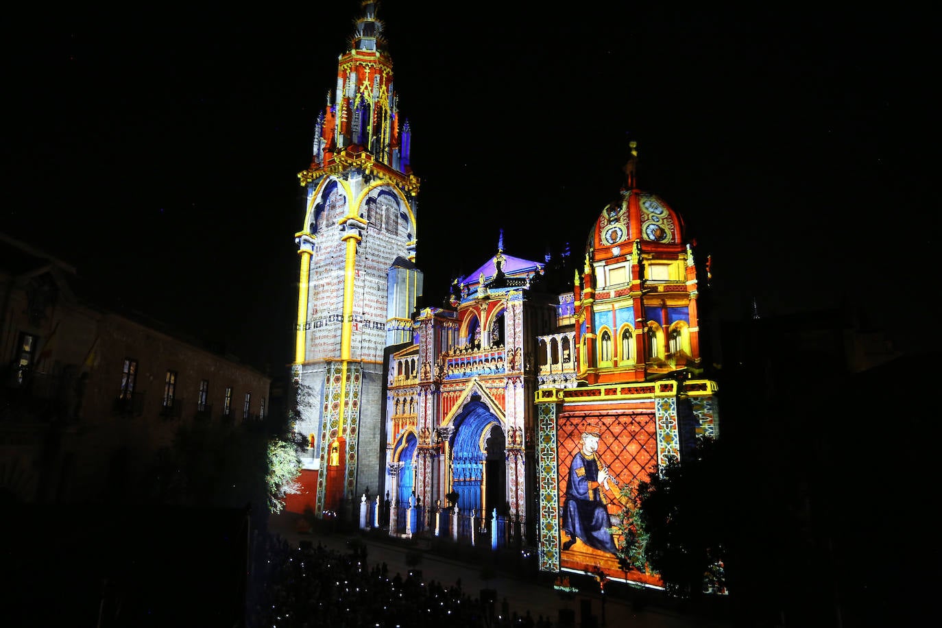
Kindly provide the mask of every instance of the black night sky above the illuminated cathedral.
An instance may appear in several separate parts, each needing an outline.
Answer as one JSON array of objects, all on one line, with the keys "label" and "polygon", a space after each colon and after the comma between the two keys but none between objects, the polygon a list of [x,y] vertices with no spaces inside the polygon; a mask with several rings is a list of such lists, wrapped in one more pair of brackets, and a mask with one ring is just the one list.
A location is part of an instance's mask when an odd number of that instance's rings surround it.
[{"label": "black night sky above the illuminated cathedral", "polygon": [[[752,298],[766,315],[841,297],[876,309],[886,279],[927,281],[918,16],[418,4],[380,17],[423,181],[430,304],[500,229],[512,255],[570,242],[581,256],[629,140],[640,186],[712,254],[729,316]],[[296,175],[358,12],[11,21],[0,231],[244,360],[289,362]]]}]

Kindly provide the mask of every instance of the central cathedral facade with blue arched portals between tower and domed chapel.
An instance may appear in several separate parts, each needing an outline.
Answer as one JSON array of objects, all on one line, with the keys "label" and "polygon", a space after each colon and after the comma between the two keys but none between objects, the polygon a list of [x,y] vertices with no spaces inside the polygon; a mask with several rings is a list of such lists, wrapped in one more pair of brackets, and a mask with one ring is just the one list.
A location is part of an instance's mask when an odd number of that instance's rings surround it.
[{"label": "central cathedral facade with blue arched portals between tower and domed chapel", "polygon": [[525,525],[535,512],[537,334],[555,329],[556,314],[539,287],[545,264],[505,254],[502,239],[453,282],[450,308],[415,316],[415,343],[391,356],[385,488],[394,515],[410,499]]}]

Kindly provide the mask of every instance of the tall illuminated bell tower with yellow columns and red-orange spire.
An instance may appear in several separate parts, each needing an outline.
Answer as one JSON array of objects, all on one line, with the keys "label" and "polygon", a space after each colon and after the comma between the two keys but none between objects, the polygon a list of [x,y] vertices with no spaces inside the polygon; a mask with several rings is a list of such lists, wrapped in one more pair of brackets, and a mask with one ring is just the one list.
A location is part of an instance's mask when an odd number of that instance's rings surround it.
[{"label": "tall illuminated bell tower with yellow columns and red-orange spire", "polygon": [[[336,511],[380,477],[383,349],[422,291],[408,122],[399,119],[393,63],[376,3],[363,2],[336,87],[317,117],[300,254],[293,376],[317,474],[315,512]],[[408,281],[403,281],[403,274]],[[349,512],[349,510],[346,510]]]}]

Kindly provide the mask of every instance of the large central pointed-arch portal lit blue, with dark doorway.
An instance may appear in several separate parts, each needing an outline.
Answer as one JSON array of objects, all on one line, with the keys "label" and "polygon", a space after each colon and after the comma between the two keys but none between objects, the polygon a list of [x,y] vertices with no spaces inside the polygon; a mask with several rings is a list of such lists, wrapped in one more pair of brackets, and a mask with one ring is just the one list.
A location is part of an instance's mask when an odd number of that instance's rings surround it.
[{"label": "large central pointed-arch portal lit blue, with dark doorway", "polygon": [[454,425],[451,477],[458,507],[479,513],[501,507],[506,501],[506,441],[500,419],[479,395],[472,395]]}]

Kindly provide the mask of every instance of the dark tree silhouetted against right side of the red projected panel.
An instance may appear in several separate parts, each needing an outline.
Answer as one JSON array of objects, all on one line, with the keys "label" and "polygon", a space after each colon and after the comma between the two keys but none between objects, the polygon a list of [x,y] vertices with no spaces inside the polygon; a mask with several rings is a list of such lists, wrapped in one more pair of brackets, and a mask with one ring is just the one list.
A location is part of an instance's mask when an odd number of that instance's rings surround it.
[{"label": "dark tree silhouetted against right side of the red projected panel", "polygon": [[639,484],[635,519],[647,535],[643,554],[677,597],[725,587],[729,525],[723,491],[717,491],[725,477],[722,466],[717,443],[703,439],[683,462],[671,459]]}]

